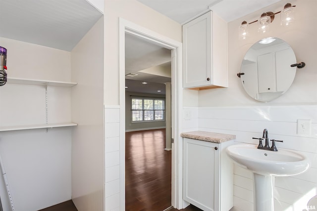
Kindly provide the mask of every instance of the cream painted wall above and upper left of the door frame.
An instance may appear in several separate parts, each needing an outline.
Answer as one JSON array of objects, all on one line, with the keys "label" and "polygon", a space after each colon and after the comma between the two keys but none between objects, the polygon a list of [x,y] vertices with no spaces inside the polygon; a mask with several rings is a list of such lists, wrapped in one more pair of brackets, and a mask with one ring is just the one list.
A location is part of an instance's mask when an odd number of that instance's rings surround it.
[{"label": "cream painted wall above and upper left of the door frame", "polygon": [[106,0],[105,9],[105,103],[119,104],[119,17],[181,42],[177,22],[137,0]]}]

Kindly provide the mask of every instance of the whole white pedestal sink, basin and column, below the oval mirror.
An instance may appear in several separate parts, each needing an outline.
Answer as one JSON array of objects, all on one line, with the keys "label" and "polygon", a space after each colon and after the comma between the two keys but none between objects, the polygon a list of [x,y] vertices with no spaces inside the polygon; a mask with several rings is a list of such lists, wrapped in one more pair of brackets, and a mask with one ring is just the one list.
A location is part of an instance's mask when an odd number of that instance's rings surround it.
[{"label": "whole white pedestal sink, basin and column, below the oval mirror", "polygon": [[304,155],[292,150],[273,152],[252,144],[237,144],[227,147],[226,152],[233,161],[253,172],[254,211],[274,211],[274,176],[300,174],[310,166]]}]

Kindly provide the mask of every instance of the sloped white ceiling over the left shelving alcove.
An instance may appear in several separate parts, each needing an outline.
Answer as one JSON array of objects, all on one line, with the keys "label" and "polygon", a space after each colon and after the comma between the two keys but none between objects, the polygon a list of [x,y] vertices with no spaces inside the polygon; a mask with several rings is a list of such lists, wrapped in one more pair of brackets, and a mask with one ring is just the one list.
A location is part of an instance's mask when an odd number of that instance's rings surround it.
[{"label": "sloped white ceiling over the left shelving alcove", "polygon": [[0,0],[0,37],[71,51],[101,17],[86,0]]}]

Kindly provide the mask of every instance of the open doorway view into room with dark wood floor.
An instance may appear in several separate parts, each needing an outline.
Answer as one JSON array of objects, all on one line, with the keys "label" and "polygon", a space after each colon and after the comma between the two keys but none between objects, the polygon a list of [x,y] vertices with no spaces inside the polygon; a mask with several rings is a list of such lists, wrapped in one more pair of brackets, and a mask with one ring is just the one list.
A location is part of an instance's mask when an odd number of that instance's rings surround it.
[{"label": "open doorway view into room with dark wood floor", "polygon": [[126,211],[171,206],[171,50],[125,34]]}]

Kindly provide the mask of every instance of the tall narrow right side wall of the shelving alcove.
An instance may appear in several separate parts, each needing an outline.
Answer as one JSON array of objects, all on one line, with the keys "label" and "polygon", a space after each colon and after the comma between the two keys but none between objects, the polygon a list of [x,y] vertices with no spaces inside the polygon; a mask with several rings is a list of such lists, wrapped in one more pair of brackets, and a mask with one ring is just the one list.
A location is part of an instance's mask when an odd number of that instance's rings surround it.
[{"label": "tall narrow right side wall of the shelving alcove", "polygon": [[72,200],[78,211],[104,210],[104,17],[71,51]]}]

